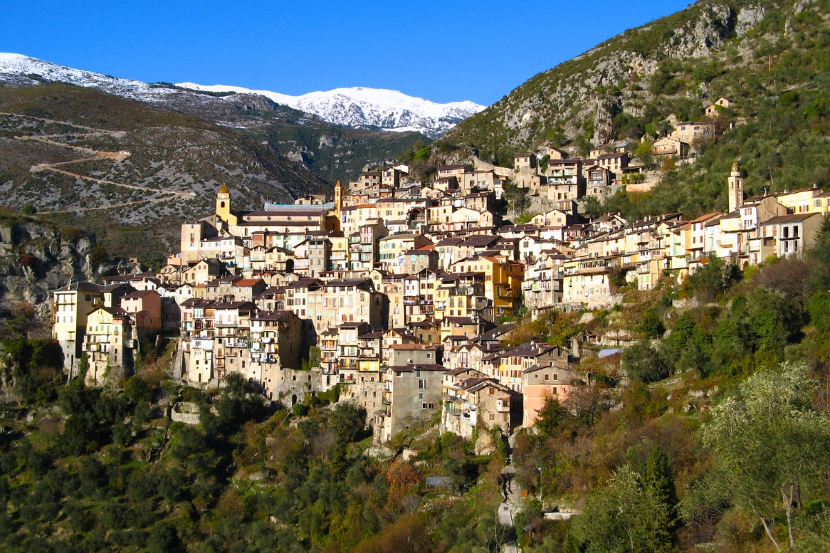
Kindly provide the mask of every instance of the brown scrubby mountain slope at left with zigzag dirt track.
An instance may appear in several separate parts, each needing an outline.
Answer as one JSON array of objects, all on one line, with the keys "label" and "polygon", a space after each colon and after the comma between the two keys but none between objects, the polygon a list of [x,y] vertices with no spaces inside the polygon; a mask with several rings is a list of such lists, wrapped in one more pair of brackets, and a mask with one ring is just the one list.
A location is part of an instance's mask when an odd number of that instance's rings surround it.
[{"label": "brown scrubby mountain slope at left with zigzag dirt track", "polygon": [[100,90],[0,87],[0,112],[0,204],[54,211],[112,255],[176,250],[181,222],[212,212],[222,182],[239,209],[328,189],[231,129]]}]

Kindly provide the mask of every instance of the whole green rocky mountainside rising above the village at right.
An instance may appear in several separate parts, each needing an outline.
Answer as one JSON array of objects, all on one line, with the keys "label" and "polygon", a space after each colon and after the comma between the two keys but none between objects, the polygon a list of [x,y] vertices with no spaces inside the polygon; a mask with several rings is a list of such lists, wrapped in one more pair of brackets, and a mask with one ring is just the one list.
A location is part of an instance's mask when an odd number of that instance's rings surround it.
[{"label": "whole green rocky mountainside rising above the village at right", "polygon": [[657,138],[704,116],[721,96],[722,136],[696,163],[666,171],[646,195],[615,196],[606,209],[642,216],[725,208],[738,158],[749,194],[830,184],[830,4],[782,0],[696,2],[603,42],[525,82],[466,119],[447,138],[510,163],[543,143],[581,152],[618,138]]}]

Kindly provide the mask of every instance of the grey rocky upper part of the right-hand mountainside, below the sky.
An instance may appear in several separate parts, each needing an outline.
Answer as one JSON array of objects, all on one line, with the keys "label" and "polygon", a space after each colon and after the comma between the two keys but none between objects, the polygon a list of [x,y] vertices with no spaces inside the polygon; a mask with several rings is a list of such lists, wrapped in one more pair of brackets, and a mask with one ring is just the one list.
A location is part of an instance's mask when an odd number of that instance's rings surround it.
[{"label": "grey rocky upper part of the right-hand mountainside, below the sky", "polygon": [[[799,24],[826,27],[827,17],[820,2],[696,2],[535,75],[447,138],[488,151],[640,138],[679,100],[700,105],[730,93],[729,83],[712,81],[740,72],[759,52],[769,50],[764,61],[774,63]],[[628,119],[643,124],[626,125]]]}]

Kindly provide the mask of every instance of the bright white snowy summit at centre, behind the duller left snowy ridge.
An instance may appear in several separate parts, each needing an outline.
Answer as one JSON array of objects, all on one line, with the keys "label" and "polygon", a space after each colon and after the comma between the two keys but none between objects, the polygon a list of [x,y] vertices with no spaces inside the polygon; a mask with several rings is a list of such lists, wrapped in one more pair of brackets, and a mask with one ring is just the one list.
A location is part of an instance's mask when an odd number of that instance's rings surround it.
[{"label": "bright white snowy summit at centre, behind the duller left snowy ridge", "polygon": [[289,96],[270,90],[250,90],[239,86],[205,86],[195,83],[178,83],[177,86],[211,92],[262,95],[277,104],[285,104],[346,127],[415,130],[432,137],[446,133],[462,120],[486,108],[470,101],[437,104],[427,99],[405,95],[398,90],[360,87]]}]

